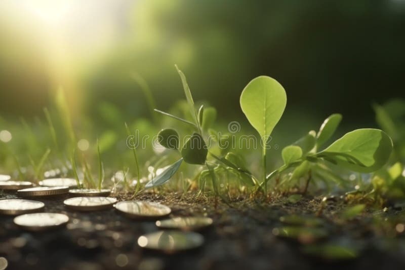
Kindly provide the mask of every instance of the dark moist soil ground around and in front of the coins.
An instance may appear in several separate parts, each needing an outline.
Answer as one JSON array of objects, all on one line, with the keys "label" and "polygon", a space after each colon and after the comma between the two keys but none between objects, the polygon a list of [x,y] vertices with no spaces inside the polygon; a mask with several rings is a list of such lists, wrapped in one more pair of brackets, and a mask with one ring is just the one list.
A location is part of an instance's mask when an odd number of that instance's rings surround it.
[{"label": "dark moist soil ground around and in front of the coins", "polygon": [[[2,194],[3,198],[16,198]],[[152,221],[130,220],[114,209],[75,212],[63,206],[67,197],[40,199],[46,212],[65,213],[66,227],[43,233],[17,228],[13,217],[0,216],[0,257],[8,260],[7,269],[403,269],[405,235],[395,233],[395,224],[405,214],[401,208],[369,210],[350,222],[334,222],[344,204],[337,199],[321,212],[321,198],[303,198],[289,203],[285,198],[270,200],[234,199],[229,205],[203,197],[174,194],[142,195],[172,207],[172,216],[207,215],[214,225],[201,234],[206,243],[192,252],[165,255],[142,250],[137,239],[157,228]],[[274,236],[286,214],[314,216],[325,220],[328,236],[323,242],[339,242],[359,250],[351,260],[328,261],[306,255],[303,244]],[[381,221],[377,227],[373,220]],[[384,225],[384,220],[388,222]],[[391,222],[391,220],[394,220]],[[381,226],[381,227],[380,227]],[[305,242],[305,241],[304,241]],[[121,266],[118,266],[121,265]]]}]

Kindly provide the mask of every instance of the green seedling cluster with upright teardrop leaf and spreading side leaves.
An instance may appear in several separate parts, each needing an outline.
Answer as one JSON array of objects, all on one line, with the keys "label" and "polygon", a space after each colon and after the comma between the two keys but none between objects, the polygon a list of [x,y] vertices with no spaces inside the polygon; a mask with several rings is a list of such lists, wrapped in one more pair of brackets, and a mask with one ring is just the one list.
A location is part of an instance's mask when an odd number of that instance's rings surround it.
[{"label": "green seedling cluster with upright teardrop leaf and spreading side leaves", "polygon": [[[205,110],[204,106],[196,110],[186,78],[180,70],[178,72],[183,83],[192,121],[176,117],[167,112],[156,111],[187,123],[195,129],[195,132],[188,138],[181,149],[179,149],[179,135],[176,130],[164,129],[159,132],[158,141],[160,144],[166,148],[177,150],[181,155],[181,159],[152,179],[146,187],[166,183],[184,161],[189,164],[205,164],[207,166],[208,170],[201,171],[201,175],[211,175],[216,194],[218,194],[216,171],[218,172],[221,167],[233,171],[241,178],[245,177],[245,180],[248,178],[248,182],[256,185],[258,190],[263,191],[265,194],[267,194],[269,180],[288,169],[295,168],[291,178],[309,175],[305,187],[306,191],[311,169],[318,170],[318,168],[321,168],[319,170],[323,170],[324,175],[328,174],[330,177],[334,177],[324,166],[324,164],[330,163],[351,171],[370,173],[383,167],[390,157],[393,146],[392,140],[385,132],[378,129],[351,131],[328,147],[320,150],[334,135],[342,120],[340,114],[332,114],[323,122],[318,132],[310,131],[294,144],[282,149],[281,156],[284,165],[268,173],[266,158],[268,141],[271,132],[285,110],[287,95],[284,88],[276,80],[268,76],[259,76],[245,87],[240,96],[241,109],[249,123],[257,130],[262,142],[263,180],[259,182],[234,153],[227,152],[224,157],[218,157],[209,152],[202,134],[202,131],[207,129],[209,125],[201,124],[212,122],[210,118],[214,118],[214,112],[205,113],[208,110]],[[221,138],[217,138],[217,140],[220,141]],[[214,162],[207,162],[208,153],[214,158]]]}]

